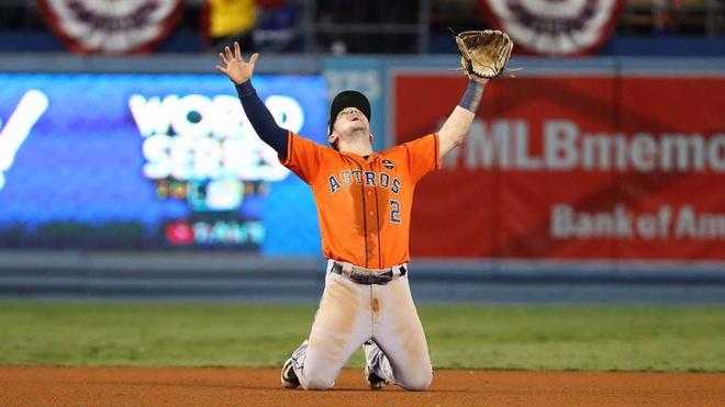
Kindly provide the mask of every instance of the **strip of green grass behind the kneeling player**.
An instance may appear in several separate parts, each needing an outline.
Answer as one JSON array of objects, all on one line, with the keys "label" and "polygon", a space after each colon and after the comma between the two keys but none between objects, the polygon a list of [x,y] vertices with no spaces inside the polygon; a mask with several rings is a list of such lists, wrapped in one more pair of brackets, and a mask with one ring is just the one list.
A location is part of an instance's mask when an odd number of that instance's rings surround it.
[{"label": "strip of green grass behind the kneeling player", "polygon": [[[437,369],[725,372],[725,307],[420,314]],[[0,364],[279,366],[313,315],[313,306],[0,303]],[[361,352],[348,365],[361,366]]]}]

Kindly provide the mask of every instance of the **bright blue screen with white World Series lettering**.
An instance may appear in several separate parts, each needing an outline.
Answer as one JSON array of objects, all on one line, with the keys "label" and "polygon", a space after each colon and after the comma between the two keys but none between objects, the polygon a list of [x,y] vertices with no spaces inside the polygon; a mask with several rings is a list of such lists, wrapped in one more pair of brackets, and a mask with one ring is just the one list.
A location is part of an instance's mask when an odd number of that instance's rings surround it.
[{"label": "bright blue screen with white World Series lettering", "polygon": [[[0,74],[0,248],[320,251],[309,188],[228,79]],[[325,143],[321,76],[255,87],[278,124]]]}]

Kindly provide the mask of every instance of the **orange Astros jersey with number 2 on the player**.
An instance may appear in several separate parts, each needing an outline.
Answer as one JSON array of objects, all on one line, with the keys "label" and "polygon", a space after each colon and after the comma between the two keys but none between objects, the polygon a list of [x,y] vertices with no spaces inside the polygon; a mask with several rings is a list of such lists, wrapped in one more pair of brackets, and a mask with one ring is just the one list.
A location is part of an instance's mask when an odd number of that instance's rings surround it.
[{"label": "orange Astros jersey with number 2 on the player", "polygon": [[312,188],[327,259],[369,269],[410,259],[413,191],[424,174],[440,168],[437,134],[365,159],[290,132],[287,151],[281,163]]}]

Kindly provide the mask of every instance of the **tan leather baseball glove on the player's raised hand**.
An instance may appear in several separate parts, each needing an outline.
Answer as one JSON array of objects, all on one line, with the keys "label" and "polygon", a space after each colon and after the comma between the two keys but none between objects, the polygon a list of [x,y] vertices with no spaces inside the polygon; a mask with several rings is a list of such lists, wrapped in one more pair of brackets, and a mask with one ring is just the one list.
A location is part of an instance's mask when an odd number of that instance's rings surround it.
[{"label": "tan leather baseball glove on the player's raised hand", "polygon": [[456,45],[464,70],[480,78],[502,75],[513,49],[509,34],[499,30],[464,31],[456,35]]}]

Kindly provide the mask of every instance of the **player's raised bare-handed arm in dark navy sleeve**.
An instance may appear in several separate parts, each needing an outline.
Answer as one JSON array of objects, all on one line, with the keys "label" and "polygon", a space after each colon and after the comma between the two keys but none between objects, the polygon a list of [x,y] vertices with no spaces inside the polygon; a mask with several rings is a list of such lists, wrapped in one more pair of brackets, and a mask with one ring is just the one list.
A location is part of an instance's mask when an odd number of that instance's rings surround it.
[{"label": "player's raised bare-handed arm in dark navy sleeve", "polygon": [[236,92],[252,127],[257,132],[259,138],[274,148],[280,157],[287,157],[287,137],[289,137],[289,133],[275,122],[275,117],[252,87],[250,79],[259,54],[253,54],[249,61],[246,63],[242,57],[239,43],[234,42],[234,53],[228,46],[224,47],[224,53],[220,53],[219,58],[223,66],[217,65],[215,68],[225,74],[236,86]]}]

